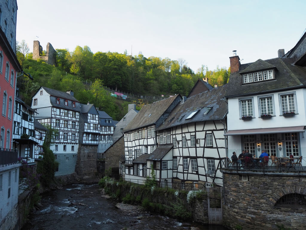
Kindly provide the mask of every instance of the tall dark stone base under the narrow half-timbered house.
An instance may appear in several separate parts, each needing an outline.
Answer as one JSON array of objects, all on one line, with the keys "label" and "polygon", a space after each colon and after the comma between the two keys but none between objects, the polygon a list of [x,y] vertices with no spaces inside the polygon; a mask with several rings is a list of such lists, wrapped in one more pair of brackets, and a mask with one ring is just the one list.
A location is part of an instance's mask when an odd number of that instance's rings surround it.
[{"label": "tall dark stone base under the narrow half-timbered house", "polygon": [[[94,146],[94,148],[90,148],[90,146]],[[97,148],[97,145],[79,145],[76,174],[82,181],[97,177]]]}]

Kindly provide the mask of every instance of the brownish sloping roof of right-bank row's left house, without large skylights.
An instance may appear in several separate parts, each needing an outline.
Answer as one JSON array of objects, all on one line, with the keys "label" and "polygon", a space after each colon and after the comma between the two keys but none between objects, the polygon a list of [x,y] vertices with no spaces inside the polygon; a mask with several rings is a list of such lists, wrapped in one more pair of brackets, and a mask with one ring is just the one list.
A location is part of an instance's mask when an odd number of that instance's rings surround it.
[{"label": "brownish sloping roof of right-bank row's left house, without large skylights", "polygon": [[[162,116],[163,113],[169,108],[179,94],[166,98],[158,102],[153,102],[149,105],[144,105],[134,119],[123,129],[124,132],[144,127],[147,125],[155,124],[155,122]],[[149,117],[149,115],[151,116]]]}]

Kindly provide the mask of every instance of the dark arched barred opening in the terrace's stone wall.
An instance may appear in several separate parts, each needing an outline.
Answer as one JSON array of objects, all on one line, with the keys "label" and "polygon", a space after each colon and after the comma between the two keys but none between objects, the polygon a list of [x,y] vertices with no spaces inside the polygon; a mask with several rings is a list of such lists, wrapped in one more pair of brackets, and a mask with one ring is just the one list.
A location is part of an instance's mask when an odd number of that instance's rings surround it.
[{"label": "dark arched barred opening in the terrace's stone wall", "polygon": [[275,203],[275,206],[290,208],[306,207],[306,195],[299,193],[286,194]]}]

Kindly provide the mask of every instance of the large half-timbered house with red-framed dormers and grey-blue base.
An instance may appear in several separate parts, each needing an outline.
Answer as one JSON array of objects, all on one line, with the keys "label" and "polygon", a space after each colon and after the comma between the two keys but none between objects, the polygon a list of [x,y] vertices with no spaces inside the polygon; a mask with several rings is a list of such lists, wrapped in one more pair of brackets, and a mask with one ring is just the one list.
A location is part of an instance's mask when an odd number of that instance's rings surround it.
[{"label": "large half-timbered house with red-framed dormers and grey-blue base", "polygon": [[79,147],[80,102],[72,91],[65,93],[42,86],[32,97],[31,107],[38,113],[35,118],[41,124],[58,130],[50,147],[59,163],[55,175],[72,174]]}]

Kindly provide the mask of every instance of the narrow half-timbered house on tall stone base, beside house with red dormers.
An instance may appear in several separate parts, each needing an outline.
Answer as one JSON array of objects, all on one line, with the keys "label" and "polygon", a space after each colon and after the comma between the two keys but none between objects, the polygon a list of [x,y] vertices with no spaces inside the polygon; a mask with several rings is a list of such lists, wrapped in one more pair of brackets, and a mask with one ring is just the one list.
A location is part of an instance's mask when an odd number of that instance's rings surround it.
[{"label": "narrow half-timbered house on tall stone base, beside house with red dormers", "polygon": [[95,176],[99,145],[99,113],[94,104],[81,105],[80,136],[76,173],[84,178]]}]

